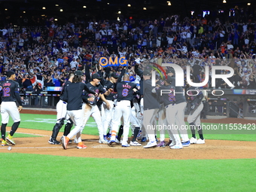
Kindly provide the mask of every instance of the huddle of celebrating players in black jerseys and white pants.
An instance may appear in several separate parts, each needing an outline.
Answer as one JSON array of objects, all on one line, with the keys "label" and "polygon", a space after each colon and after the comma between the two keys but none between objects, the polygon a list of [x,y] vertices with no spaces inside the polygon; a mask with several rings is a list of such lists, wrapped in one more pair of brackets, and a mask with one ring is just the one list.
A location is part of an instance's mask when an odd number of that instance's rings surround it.
[{"label": "huddle of celebrating players in black jerseys and white pants", "polygon": [[[174,69],[166,69],[166,78],[157,81],[157,86],[151,84],[151,69],[135,67],[136,81],[130,81],[130,75],[124,67],[120,74],[113,72],[109,77],[102,78],[102,70],[93,74],[91,81],[85,84],[83,72],[69,74],[69,81],[62,86],[62,93],[56,105],[57,122],[48,141],[59,145],[56,137],[67,120],[62,147],[68,148],[69,143],[78,143],[77,148],[87,148],[82,142],[81,133],[87,125],[90,116],[96,121],[99,130],[99,143],[110,147],[141,146],[140,142],[148,144],[143,148],[166,147],[181,149],[190,144],[204,144],[203,132],[200,126],[200,112],[203,110],[205,95],[198,87],[175,86]],[[191,75],[191,81],[194,80]],[[169,90],[162,94],[161,90]],[[185,96],[182,92],[187,93]],[[187,97],[187,98],[186,98]],[[183,129],[184,111],[190,102],[190,114],[187,117],[192,137],[189,139],[187,129]],[[75,125],[72,129],[73,124]],[[168,126],[169,125],[169,126]],[[174,126],[175,125],[175,126]],[[128,137],[132,130],[130,144]],[[169,142],[165,140],[165,129],[160,129],[160,142],[157,140],[155,127],[172,127],[166,129]],[[175,129],[173,129],[175,127]],[[177,129],[178,127],[178,129]],[[196,137],[196,130],[200,138]],[[74,141],[71,139],[75,136]],[[158,142],[158,144],[157,144]]]}]

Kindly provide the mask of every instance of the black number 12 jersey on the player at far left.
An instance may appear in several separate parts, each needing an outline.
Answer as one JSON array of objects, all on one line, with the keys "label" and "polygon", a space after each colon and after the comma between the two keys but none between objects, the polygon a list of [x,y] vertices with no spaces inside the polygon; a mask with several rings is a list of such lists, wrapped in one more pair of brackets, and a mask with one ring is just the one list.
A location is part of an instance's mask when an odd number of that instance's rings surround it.
[{"label": "black number 12 jersey on the player at far left", "polygon": [[20,86],[16,81],[8,79],[0,83],[0,90],[2,91],[1,102],[18,102],[22,106],[20,99]]}]

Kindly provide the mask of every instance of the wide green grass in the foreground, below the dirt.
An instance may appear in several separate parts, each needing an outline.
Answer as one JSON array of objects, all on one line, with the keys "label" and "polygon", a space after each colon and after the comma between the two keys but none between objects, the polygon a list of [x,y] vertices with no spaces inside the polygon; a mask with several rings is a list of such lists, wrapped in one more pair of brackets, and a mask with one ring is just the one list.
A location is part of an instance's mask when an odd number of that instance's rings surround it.
[{"label": "wide green grass in the foreground, below the dirt", "polygon": [[256,191],[254,159],[1,156],[2,167],[8,171],[1,187],[7,191]]}]

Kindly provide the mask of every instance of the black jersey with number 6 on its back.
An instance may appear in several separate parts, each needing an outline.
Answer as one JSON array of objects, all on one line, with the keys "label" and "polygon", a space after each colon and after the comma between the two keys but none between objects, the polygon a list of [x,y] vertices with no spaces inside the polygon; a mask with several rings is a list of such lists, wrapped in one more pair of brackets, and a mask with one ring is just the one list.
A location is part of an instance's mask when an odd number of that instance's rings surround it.
[{"label": "black jersey with number 6 on its back", "polygon": [[117,83],[117,101],[132,101],[133,88],[136,88],[136,84],[133,84],[130,81],[121,81]]}]

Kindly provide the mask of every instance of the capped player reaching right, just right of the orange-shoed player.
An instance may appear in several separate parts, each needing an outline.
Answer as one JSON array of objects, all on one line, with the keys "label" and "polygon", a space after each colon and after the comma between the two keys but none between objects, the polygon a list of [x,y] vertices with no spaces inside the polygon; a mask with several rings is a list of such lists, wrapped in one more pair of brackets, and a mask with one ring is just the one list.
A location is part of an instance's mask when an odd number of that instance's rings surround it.
[{"label": "capped player reaching right, just right of the orange-shoed player", "polygon": [[[108,102],[107,99],[105,99],[105,96],[108,96],[113,89],[112,88],[108,88],[108,90],[105,90],[104,87],[102,87],[102,84],[99,83],[99,81],[102,79],[101,76],[99,76],[99,74],[93,74],[92,75],[92,81],[90,81],[90,83],[87,84],[87,87],[90,88],[90,90],[94,90],[102,99],[103,102],[105,102],[106,108],[110,108],[110,103]],[[87,94],[86,96],[84,96],[84,101],[87,102],[87,98],[90,98],[91,96],[89,94]],[[83,108],[84,108],[84,126],[87,123],[87,120],[89,119],[90,115],[93,117],[93,119],[95,120],[98,130],[99,130],[99,143],[108,143],[108,140],[106,138],[104,138],[104,130],[103,130],[103,126],[102,126],[102,118],[100,115],[100,111],[98,106],[96,105],[96,102],[99,100],[98,97],[96,97],[95,102],[93,102],[93,104],[89,104],[84,103]],[[105,131],[106,132],[106,131]]]}]

